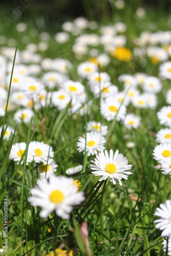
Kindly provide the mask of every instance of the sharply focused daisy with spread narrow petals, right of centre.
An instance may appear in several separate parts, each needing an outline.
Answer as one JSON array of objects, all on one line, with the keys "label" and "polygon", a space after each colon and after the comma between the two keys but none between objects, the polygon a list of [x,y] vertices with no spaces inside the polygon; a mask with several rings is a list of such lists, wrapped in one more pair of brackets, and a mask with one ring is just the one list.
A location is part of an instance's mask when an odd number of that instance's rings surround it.
[{"label": "sharply focused daisy with spread narrow petals, right of centre", "polygon": [[131,175],[131,172],[127,170],[131,169],[132,165],[128,165],[128,160],[122,154],[119,154],[117,150],[115,155],[113,150],[99,153],[95,161],[91,161],[91,169],[95,170],[92,172],[95,176],[102,176],[99,181],[106,180],[110,177],[110,181],[116,184],[116,180],[122,186],[121,179],[127,180],[127,175]]}]

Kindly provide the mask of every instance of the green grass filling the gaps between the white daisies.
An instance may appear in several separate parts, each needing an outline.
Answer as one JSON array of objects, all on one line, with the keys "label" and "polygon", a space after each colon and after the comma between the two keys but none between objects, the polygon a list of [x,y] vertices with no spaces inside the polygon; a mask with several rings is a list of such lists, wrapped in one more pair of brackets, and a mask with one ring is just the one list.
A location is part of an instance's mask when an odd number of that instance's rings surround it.
[{"label": "green grass filling the gaps between the white daisies", "polygon": [[[151,11],[151,10],[150,10]],[[125,14],[125,15],[123,15]],[[134,37],[138,37],[140,32],[148,28],[149,23],[156,24],[156,31],[168,30],[167,16],[163,17],[159,10],[152,11],[141,22],[135,18],[131,8],[116,12],[113,22],[120,20],[127,25],[127,46],[133,50]],[[156,17],[158,19],[156,20]],[[38,43],[38,36],[31,35],[33,28],[30,20],[28,31],[23,35],[29,35],[30,40]],[[107,24],[107,22],[106,22]],[[139,28],[138,24],[142,25]],[[2,34],[6,37],[13,37],[18,42],[18,50],[25,49],[22,37],[15,30],[16,23],[11,24],[9,32],[6,33],[5,25],[2,26]],[[103,25],[103,24],[101,24]],[[35,24],[34,24],[35,26]],[[45,28],[44,28],[45,29]],[[38,52],[42,57],[60,57],[58,53],[67,44],[73,44],[74,36],[65,45],[57,45],[53,38],[54,30],[49,30],[51,39],[47,52]],[[87,32],[92,33],[90,30]],[[99,34],[99,30],[93,31]],[[95,47],[90,47],[90,49]],[[97,47],[99,52],[103,49]],[[89,49],[89,50],[90,50]],[[70,79],[79,79],[76,68],[80,62],[89,59],[90,55],[77,60],[71,51],[67,59],[72,61],[73,70],[69,71]],[[111,76],[113,84],[119,90],[122,89],[118,76],[121,74],[132,74],[142,72],[147,75],[158,76],[159,65],[153,65],[147,57],[146,64],[142,65],[138,58],[133,58],[129,63],[111,59],[110,65],[101,68],[100,72],[107,72]],[[14,56],[15,61],[15,56]],[[12,71],[14,68],[14,62]],[[38,74],[41,78],[43,72]],[[68,250],[73,250],[73,255],[166,255],[162,250],[160,230],[156,230],[154,222],[154,212],[160,203],[170,199],[170,178],[163,176],[160,170],[156,169],[157,161],[153,159],[153,150],[157,145],[156,133],[161,129],[156,113],[165,105],[164,95],[170,87],[168,80],[163,81],[163,90],[158,94],[158,105],[155,110],[135,109],[133,105],[127,107],[127,113],[135,112],[141,116],[141,124],[137,130],[130,131],[116,121],[108,122],[99,115],[99,99],[94,98],[88,87],[87,79],[82,80],[82,84],[87,90],[88,100],[92,100],[90,113],[79,116],[69,115],[71,106],[59,112],[54,106],[47,105],[38,111],[34,110],[33,123],[20,123],[16,127],[13,119],[14,113],[20,108],[16,106],[11,112],[5,112],[5,117],[0,117],[0,124],[4,125],[1,133],[0,146],[0,191],[1,210],[4,210],[4,199],[8,199],[8,252],[6,255],[48,255],[54,248],[63,246]],[[11,85],[11,81],[10,81]],[[8,91],[10,99],[10,86]],[[7,99],[7,104],[8,104]],[[98,113],[97,113],[98,112]],[[96,120],[108,125],[109,132],[106,136],[106,149],[113,148],[114,151],[124,154],[132,164],[133,175],[128,180],[123,181],[123,186],[118,183],[114,186],[109,180],[99,182],[99,177],[91,174],[91,160],[87,154],[78,153],[76,142],[79,136],[86,134],[87,122]],[[3,135],[7,129],[7,123],[15,128],[10,140],[3,140]],[[33,207],[27,201],[30,196],[30,188],[37,182],[34,163],[26,165],[26,156],[29,142],[37,140],[50,144],[54,150],[54,161],[58,164],[56,176],[66,175],[66,169],[78,164],[83,165],[81,174],[74,175],[74,179],[81,180],[85,200],[81,205],[74,207],[70,219],[65,220],[56,217],[54,212],[48,218],[39,217],[40,207]],[[27,144],[25,155],[19,164],[9,160],[12,144],[25,141]],[[127,147],[127,142],[134,142],[133,148]],[[21,162],[24,160],[24,164]],[[89,245],[80,236],[80,225],[86,221],[89,231]],[[1,230],[1,229],[0,229]],[[2,232],[3,245],[5,237]],[[86,247],[87,246],[87,247]],[[90,250],[90,251],[89,251]]]}]

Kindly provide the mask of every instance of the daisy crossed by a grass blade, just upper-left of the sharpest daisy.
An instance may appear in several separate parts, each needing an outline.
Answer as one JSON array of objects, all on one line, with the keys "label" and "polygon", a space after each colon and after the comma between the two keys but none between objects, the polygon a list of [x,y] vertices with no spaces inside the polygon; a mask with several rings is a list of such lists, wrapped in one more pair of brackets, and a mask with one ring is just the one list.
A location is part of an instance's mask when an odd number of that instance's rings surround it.
[{"label": "daisy crossed by a grass blade, just upper-left of the sharpest daisy", "polygon": [[[97,132],[88,132],[87,133],[87,141],[86,139],[79,137],[78,142],[77,142],[77,150],[79,152],[82,152],[85,150],[86,146],[86,152],[88,152],[88,157],[89,156],[94,156],[95,154],[98,153],[98,151],[104,150],[104,143],[105,143],[105,138]],[[84,153],[83,153],[84,154]]]}]

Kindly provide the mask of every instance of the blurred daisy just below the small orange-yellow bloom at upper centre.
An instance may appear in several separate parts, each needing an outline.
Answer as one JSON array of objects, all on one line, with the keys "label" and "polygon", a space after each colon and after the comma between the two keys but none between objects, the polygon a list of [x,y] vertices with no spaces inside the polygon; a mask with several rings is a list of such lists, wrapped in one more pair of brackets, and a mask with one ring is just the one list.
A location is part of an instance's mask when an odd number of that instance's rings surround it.
[{"label": "blurred daisy just below the small orange-yellow bloom at upper centre", "polygon": [[82,78],[88,78],[94,72],[97,72],[97,66],[90,61],[82,62],[77,67],[77,73]]}]

